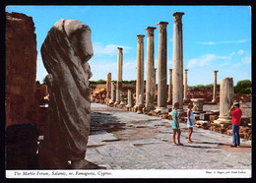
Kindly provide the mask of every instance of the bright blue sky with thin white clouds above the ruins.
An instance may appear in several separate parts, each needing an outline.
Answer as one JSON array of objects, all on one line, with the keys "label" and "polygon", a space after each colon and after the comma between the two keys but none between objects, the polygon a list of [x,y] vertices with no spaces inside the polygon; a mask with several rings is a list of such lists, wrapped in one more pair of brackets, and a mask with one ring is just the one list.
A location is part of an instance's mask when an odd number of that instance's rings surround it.
[{"label": "bright blue sky with thin white clouds above the ruins", "polygon": [[[116,80],[117,47],[123,47],[123,80],[136,80],[137,34],[145,34],[145,80],[147,27],[155,30],[155,67],[158,68],[159,29],[167,25],[167,69],[172,68],[173,17],[184,12],[183,65],[188,69],[188,85],[213,84],[232,77],[234,85],[251,80],[251,8],[249,6],[7,6],[6,12],[32,17],[37,42],[36,80],[47,75],[40,47],[48,30],[60,19],[75,19],[92,30],[94,57],[89,61],[91,80]],[[168,73],[168,72],[167,72]],[[168,78],[168,77],[167,77]]]}]

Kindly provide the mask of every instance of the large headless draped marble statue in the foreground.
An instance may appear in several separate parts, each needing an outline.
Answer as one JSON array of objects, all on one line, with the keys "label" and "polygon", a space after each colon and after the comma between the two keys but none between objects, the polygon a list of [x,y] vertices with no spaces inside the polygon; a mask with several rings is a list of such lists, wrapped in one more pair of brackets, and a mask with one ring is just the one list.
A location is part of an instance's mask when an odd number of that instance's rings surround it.
[{"label": "large headless draped marble statue in the foreground", "polygon": [[85,159],[91,123],[88,61],[93,55],[91,30],[76,20],[56,22],[42,43],[49,106],[39,169],[94,168]]}]

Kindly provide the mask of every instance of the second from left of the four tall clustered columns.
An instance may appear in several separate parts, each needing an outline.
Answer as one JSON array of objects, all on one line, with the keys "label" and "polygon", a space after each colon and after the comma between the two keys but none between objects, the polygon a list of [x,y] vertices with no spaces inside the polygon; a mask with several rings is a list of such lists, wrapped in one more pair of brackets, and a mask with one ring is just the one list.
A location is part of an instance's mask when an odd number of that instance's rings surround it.
[{"label": "second from left of the four tall clustered columns", "polygon": [[155,46],[154,30],[157,28],[148,27],[147,30],[147,81],[146,81],[146,110],[154,110],[155,99]]}]

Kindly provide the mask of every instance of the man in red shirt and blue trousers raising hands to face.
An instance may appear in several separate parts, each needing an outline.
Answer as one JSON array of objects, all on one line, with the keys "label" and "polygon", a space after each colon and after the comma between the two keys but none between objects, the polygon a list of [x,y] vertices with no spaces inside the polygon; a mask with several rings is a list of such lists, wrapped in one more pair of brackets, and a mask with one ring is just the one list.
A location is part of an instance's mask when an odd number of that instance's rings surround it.
[{"label": "man in red shirt and blue trousers raising hands to face", "polygon": [[238,147],[240,145],[239,126],[242,111],[239,107],[240,104],[235,102],[228,111],[232,115],[232,148]]}]

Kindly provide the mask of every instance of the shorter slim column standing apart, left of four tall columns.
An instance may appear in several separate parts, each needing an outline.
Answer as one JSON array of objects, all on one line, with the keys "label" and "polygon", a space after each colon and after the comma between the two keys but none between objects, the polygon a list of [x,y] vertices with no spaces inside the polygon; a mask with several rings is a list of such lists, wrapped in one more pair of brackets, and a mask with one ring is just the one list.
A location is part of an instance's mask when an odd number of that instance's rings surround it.
[{"label": "shorter slim column standing apart, left of four tall columns", "polygon": [[116,81],[116,100],[115,104],[119,104],[121,101],[120,94],[123,92],[122,87],[122,74],[123,74],[123,48],[117,47],[118,54],[117,54],[117,81]]}]

